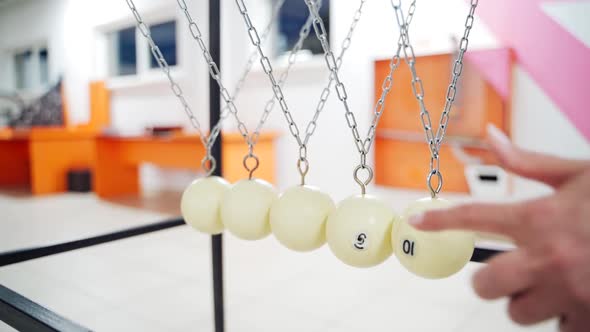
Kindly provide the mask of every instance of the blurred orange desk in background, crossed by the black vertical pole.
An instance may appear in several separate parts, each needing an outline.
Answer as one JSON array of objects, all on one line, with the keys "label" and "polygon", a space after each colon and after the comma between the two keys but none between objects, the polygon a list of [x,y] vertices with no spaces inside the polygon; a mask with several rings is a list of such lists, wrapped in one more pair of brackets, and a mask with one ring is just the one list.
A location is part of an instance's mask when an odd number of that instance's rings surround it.
[{"label": "blurred orange desk in background, crossed by the black vertical pole", "polygon": [[[256,177],[269,182],[275,180],[276,133],[261,134],[255,153],[260,158]],[[248,173],[242,159],[247,145],[237,133],[222,137],[223,175],[235,182],[246,178]],[[171,137],[113,137],[99,136],[96,140],[96,168],[94,191],[103,198],[139,194],[139,166],[151,163],[160,167],[191,169],[200,172],[205,150],[197,135],[174,135]]]}]

